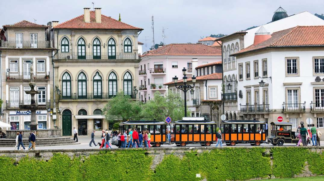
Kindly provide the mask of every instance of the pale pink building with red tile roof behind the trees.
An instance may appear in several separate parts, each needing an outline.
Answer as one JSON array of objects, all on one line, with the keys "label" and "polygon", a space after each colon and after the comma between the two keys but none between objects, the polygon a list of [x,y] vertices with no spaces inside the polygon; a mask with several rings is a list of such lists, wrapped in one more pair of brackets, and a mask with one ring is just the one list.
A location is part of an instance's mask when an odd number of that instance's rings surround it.
[{"label": "pale pink building with red tile roof behind the trees", "polygon": [[221,49],[203,44],[169,44],[142,55],[139,64],[140,100],[146,102],[159,91],[167,93],[167,85],[175,75],[182,77],[183,67],[187,76],[193,75],[191,59],[198,58],[198,65],[221,60]]}]

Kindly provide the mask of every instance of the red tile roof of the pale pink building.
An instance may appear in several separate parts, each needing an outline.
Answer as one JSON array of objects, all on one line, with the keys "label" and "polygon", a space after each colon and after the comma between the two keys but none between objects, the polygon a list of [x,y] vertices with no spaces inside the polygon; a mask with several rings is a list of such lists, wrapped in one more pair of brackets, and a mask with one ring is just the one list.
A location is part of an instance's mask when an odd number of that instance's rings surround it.
[{"label": "red tile roof of the pale pink building", "polygon": [[222,55],[222,49],[203,44],[173,43],[153,50],[142,57],[149,55]]}]

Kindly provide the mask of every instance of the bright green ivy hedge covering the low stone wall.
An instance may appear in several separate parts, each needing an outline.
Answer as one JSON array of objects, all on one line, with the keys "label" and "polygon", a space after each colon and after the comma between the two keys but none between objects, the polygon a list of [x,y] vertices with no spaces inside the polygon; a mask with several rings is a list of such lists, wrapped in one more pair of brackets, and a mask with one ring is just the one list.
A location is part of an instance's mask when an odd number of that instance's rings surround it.
[{"label": "bright green ivy hedge covering the low stone wall", "polygon": [[324,156],[306,148],[272,148],[272,166],[263,152],[263,148],[254,147],[192,151],[182,158],[165,155],[155,171],[151,169],[153,157],[145,150],[100,151],[84,161],[56,153],[47,162],[25,157],[17,164],[0,156],[0,180],[247,180],[292,177],[302,172],[306,161],[311,172],[324,174]]}]

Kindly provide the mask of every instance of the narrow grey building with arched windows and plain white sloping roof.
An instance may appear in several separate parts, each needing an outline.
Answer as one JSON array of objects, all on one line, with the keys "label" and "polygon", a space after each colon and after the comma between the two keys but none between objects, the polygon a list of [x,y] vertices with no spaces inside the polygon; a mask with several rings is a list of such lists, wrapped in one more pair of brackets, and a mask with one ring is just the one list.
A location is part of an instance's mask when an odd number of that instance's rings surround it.
[{"label": "narrow grey building with arched windows and plain white sloping roof", "polygon": [[[223,45],[223,81],[226,89],[222,95],[222,100],[224,101],[224,114],[228,119],[237,118],[237,80],[243,79],[243,74],[238,75],[239,72],[243,72],[243,67],[237,67],[236,57],[230,56],[231,54],[237,53],[243,48],[252,45],[254,43],[254,35],[256,33],[262,34],[261,27],[271,34],[297,25],[324,25],[322,19],[307,11],[287,17],[284,14],[287,14],[286,11],[282,7],[279,7],[274,12],[272,22],[249,30],[238,31],[217,39],[218,41],[222,41]],[[251,67],[247,67],[247,69]],[[251,77],[252,75],[247,76]],[[230,89],[228,89],[228,84],[230,84]]]}]

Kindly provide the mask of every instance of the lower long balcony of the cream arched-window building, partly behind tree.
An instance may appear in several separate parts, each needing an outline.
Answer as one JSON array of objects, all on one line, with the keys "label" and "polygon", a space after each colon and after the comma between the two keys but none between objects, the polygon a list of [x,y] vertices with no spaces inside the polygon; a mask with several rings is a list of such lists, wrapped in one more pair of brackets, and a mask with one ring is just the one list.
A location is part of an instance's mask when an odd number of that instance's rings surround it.
[{"label": "lower long balcony of the cream arched-window building, partly behind tree", "polygon": [[[72,95],[69,96],[63,96],[62,94],[60,95],[60,99],[72,99],[72,100],[76,100],[76,99],[86,99],[86,100],[100,100],[100,99],[111,99],[113,98],[115,95],[113,95],[113,93],[98,93],[98,94],[94,94],[94,93],[86,93],[86,94],[80,94],[78,95],[77,93],[74,93]],[[132,99],[135,99],[136,96],[134,94],[129,95],[131,96]]]}]

